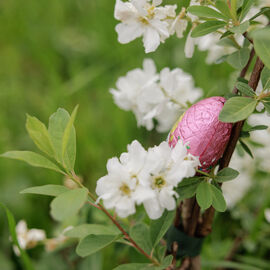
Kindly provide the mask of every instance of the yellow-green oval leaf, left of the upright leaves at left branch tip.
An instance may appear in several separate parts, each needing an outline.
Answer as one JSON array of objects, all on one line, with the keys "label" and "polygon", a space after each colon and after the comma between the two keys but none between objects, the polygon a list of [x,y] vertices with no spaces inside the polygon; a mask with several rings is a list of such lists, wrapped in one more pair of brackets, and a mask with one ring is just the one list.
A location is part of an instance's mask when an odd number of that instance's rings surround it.
[{"label": "yellow-green oval leaf, left of the upright leaves at left branch tip", "polygon": [[54,156],[54,150],[46,126],[36,117],[27,114],[26,129],[36,146],[48,156]]}]

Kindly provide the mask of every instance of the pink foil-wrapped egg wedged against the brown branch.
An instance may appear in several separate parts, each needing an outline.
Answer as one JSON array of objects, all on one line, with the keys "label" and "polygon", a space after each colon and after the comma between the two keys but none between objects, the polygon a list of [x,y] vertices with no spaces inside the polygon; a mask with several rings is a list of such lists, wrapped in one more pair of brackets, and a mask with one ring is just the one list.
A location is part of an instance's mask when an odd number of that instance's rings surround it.
[{"label": "pink foil-wrapped egg wedged against the brown branch", "polygon": [[181,115],[169,134],[169,145],[174,147],[178,140],[187,143],[189,153],[199,157],[203,171],[217,164],[231,135],[232,124],[218,120],[225,101],[223,97],[199,101]]}]

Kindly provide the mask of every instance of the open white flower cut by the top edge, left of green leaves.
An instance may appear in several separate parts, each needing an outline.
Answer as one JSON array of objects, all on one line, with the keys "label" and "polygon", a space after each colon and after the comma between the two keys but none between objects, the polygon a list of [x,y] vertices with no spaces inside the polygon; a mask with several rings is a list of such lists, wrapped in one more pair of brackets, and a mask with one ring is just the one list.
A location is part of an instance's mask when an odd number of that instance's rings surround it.
[{"label": "open white flower cut by the top edge, left of green leaves", "polygon": [[116,26],[118,41],[129,43],[143,36],[145,52],[153,52],[160,42],[169,37],[166,17],[174,12],[176,6],[157,7],[162,0],[131,0],[128,2],[116,1],[114,17],[120,20]]}]

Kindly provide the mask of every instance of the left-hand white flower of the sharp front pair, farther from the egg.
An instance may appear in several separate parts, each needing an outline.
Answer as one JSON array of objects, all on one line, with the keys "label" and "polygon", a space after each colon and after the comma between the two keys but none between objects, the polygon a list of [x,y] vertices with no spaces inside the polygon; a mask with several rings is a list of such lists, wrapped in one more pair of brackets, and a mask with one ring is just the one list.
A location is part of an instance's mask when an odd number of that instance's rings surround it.
[{"label": "left-hand white flower of the sharp front pair, farther from the egg", "polygon": [[128,152],[123,153],[120,161],[112,158],[107,163],[108,174],[97,182],[96,193],[104,206],[115,209],[120,217],[135,213],[135,203],[141,203],[145,198],[154,196],[139,184],[139,177],[144,166],[147,152],[138,141],[128,146]]}]

